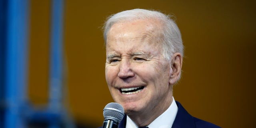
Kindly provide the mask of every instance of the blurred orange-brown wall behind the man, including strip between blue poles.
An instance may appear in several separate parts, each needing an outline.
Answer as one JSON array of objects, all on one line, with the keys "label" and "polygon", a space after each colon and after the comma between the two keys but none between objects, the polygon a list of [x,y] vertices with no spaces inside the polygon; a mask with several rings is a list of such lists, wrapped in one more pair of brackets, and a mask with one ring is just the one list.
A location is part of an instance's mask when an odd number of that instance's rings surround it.
[{"label": "blurred orange-brown wall behind the man, including strip between blue poles", "polygon": [[[31,1],[29,96],[47,102],[50,1]],[[192,114],[226,128],[254,126],[255,2],[237,0],[66,0],[66,99],[80,124],[102,125],[113,102],[105,76],[101,26],[110,14],[133,8],[175,14],[185,58],[175,100]]]}]

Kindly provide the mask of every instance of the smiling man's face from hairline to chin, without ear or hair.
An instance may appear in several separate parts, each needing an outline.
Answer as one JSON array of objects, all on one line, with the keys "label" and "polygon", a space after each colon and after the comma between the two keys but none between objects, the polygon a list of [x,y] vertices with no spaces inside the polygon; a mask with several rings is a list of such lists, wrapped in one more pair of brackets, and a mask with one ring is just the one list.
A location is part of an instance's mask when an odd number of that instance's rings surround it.
[{"label": "smiling man's face from hairline to chin, without ear or hair", "polygon": [[[114,24],[106,41],[106,82],[127,115],[170,106],[170,61],[162,57],[158,20]],[[153,111],[153,112],[156,112]]]}]

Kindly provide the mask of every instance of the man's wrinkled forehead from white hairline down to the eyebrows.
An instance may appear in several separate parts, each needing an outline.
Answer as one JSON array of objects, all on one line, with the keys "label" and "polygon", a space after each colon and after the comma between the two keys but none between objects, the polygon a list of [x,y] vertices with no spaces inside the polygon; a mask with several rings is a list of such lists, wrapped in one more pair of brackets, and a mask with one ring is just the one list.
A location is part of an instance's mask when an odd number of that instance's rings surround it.
[{"label": "man's wrinkled forehead from white hairline down to the eyebrows", "polygon": [[116,23],[108,32],[106,52],[159,52],[162,39],[160,26],[160,22],[154,19]]}]

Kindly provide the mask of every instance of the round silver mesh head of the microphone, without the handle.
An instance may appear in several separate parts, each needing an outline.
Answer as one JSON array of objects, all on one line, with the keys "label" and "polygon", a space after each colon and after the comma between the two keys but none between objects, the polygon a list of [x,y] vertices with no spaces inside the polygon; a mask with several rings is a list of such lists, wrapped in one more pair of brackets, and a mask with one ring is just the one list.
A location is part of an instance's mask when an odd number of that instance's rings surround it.
[{"label": "round silver mesh head of the microphone, without the handle", "polygon": [[124,118],[124,108],[118,103],[108,103],[103,109],[104,119],[112,119],[118,123]]}]

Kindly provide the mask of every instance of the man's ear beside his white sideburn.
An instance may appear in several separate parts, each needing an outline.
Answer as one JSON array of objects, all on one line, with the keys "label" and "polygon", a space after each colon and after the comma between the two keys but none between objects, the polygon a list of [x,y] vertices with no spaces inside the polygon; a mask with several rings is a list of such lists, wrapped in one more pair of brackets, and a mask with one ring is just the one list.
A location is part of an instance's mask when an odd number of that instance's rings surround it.
[{"label": "man's ear beside his white sideburn", "polygon": [[174,53],[171,60],[172,74],[170,76],[169,84],[175,84],[181,75],[182,68],[182,56],[180,53]]}]

